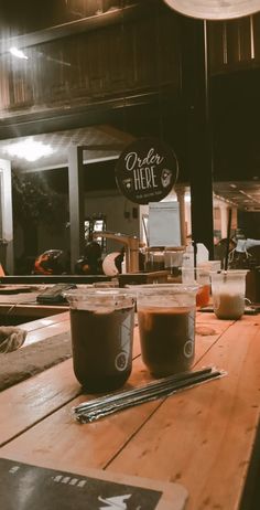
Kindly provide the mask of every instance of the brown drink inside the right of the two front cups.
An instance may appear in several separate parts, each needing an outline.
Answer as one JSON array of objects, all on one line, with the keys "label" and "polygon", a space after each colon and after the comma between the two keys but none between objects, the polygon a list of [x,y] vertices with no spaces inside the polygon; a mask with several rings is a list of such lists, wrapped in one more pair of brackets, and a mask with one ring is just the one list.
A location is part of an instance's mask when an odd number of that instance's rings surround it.
[{"label": "brown drink inside the right of the two front cups", "polygon": [[155,376],[188,370],[194,360],[195,307],[139,307],[144,364]]}]

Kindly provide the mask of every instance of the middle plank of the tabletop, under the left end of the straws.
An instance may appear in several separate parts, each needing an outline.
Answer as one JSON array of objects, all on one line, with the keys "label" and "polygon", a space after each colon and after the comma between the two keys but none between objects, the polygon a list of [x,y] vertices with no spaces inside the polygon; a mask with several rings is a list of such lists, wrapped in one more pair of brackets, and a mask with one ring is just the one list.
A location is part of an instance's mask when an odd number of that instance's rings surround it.
[{"label": "middle plank of the tabletop, under the left end of the straws", "polygon": [[71,415],[72,406],[84,400],[86,395],[80,395],[25,431],[1,448],[1,456],[48,467],[55,465],[55,459],[63,458],[64,466],[75,470],[84,467],[104,468],[158,405],[149,403],[85,427],[75,423]]}]

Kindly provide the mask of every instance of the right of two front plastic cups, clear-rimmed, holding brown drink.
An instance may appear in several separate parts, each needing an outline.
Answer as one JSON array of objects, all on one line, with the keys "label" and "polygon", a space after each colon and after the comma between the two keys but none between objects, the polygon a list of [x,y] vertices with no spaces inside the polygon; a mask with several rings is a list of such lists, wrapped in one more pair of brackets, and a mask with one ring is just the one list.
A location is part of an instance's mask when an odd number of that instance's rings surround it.
[{"label": "right of two front plastic cups, clear-rimmed, holding brown drink", "polygon": [[189,369],[195,353],[197,286],[138,286],[137,310],[141,354],[158,378]]}]

